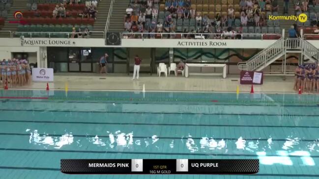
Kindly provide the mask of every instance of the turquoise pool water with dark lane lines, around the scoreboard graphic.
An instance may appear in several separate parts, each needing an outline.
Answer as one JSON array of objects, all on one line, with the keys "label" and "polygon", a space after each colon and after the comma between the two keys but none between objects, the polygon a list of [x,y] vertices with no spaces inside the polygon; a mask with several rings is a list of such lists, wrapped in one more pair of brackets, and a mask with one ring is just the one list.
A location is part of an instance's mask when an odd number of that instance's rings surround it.
[{"label": "turquoise pool water with dark lane lines, around the scoreboard graphic", "polygon": [[[259,158],[260,172],[66,175],[62,158]],[[0,91],[0,179],[104,178],[319,178],[319,95]]]}]

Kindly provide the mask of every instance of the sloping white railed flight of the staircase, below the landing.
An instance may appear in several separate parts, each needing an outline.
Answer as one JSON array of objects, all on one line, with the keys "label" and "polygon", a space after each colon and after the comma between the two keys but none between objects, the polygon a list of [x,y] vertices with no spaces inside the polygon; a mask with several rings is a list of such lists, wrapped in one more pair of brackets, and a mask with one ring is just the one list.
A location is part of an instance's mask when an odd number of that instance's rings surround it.
[{"label": "sloping white railed flight of the staircase, below the landing", "polygon": [[284,52],[284,40],[279,39],[271,46],[263,49],[257,53],[253,58],[246,62],[239,62],[239,70],[254,71],[262,66],[266,66],[267,63],[271,62],[280,53]]}]

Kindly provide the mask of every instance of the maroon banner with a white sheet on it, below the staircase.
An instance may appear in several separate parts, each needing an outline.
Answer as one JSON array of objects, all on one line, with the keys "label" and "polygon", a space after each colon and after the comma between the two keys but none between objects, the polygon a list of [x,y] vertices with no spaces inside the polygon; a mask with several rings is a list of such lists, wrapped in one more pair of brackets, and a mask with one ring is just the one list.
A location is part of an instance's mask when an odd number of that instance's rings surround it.
[{"label": "maroon banner with a white sheet on it, below the staircase", "polygon": [[252,71],[240,72],[240,84],[262,84],[263,73]]}]

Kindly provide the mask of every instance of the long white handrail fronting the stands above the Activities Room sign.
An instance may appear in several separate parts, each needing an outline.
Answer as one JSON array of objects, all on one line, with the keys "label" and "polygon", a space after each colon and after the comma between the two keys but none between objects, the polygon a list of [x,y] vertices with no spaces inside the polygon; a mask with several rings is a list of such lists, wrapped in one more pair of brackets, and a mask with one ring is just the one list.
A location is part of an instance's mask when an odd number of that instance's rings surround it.
[{"label": "long white handrail fronting the stands above the Activities Room sign", "polygon": [[[264,35],[276,35],[278,37],[281,38],[281,34],[275,34],[275,33],[269,33],[269,34],[263,34],[263,33],[233,33],[233,34],[223,34],[223,33],[182,33],[182,32],[174,32],[174,33],[166,33],[166,32],[163,32],[163,33],[149,33],[149,32],[122,32],[122,36],[121,38],[123,39],[124,36],[127,36],[129,38],[129,36],[131,35],[142,35],[141,38],[143,38],[143,35],[157,35],[157,34],[160,34],[161,35],[161,38],[160,39],[163,39],[163,35],[165,34],[168,34],[168,35],[174,35],[176,37],[177,34],[181,35],[181,39],[184,39],[184,35],[195,35],[195,36],[198,36],[198,37],[195,37],[195,39],[205,39],[203,38],[205,35],[214,35],[215,37],[217,36],[220,36],[222,39],[224,37],[230,37],[230,38],[235,38],[236,39],[236,36],[237,35],[241,35],[241,38],[240,39],[243,39],[243,36],[257,36],[257,35],[260,35],[261,36],[261,39],[262,40],[265,40],[263,39],[263,36]],[[127,39],[127,38],[124,38],[124,39]],[[135,39],[135,38],[133,38]],[[208,38],[209,39],[209,38]],[[272,39],[272,40],[276,40],[276,39]]]}]

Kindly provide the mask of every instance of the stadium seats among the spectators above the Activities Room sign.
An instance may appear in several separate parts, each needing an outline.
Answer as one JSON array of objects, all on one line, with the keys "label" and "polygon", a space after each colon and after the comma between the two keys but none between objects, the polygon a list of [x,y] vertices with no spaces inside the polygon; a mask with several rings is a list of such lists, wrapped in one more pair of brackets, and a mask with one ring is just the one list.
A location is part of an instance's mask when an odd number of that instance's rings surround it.
[{"label": "stadium seats among the spectators above the Activities Room sign", "polygon": [[[177,0],[176,0],[177,1]],[[130,1],[132,2],[132,1]],[[133,1],[134,2],[134,1]],[[142,4],[131,4],[131,7],[134,9],[134,12],[137,13],[140,12],[140,8],[142,7]],[[165,1],[166,2],[166,1]],[[158,23],[160,22],[161,24],[166,22],[166,17],[169,15],[172,15],[172,21],[173,21],[173,30],[172,28],[170,28],[170,31],[168,32],[190,32],[190,31],[197,31],[199,33],[203,33],[203,30],[205,29],[205,25],[201,24],[199,25],[195,19],[190,18],[191,15],[189,15],[188,19],[185,19],[182,15],[181,19],[177,18],[176,15],[176,10],[172,12],[172,9],[166,7],[166,3],[159,3],[159,4],[153,4],[152,8],[158,8],[158,16],[157,19],[155,19],[155,22]],[[179,1],[177,1],[178,4]],[[184,6],[183,8],[187,8],[185,6],[185,2],[186,0],[184,0]],[[191,4],[190,4],[190,8],[193,8],[196,10],[196,14],[200,14],[202,16],[202,19],[204,16],[207,16],[208,19],[210,20],[210,22],[215,20],[215,17],[217,14],[219,15],[228,15],[228,9],[233,7],[234,9],[234,17],[235,19],[233,20],[227,20],[228,25],[226,26],[221,26],[222,30],[227,29],[228,26],[233,27],[234,29],[242,29],[244,31],[239,31],[239,33],[245,33],[245,32],[249,32],[249,33],[278,33],[281,34],[280,31],[280,27],[279,27],[279,21],[273,21],[273,20],[269,20],[268,17],[269,15],[274,15],[274,16],[278,16],[278,12],[272,12],[271,11],[271,5],[270,4],[266,4],[265,5],[265,10],[260,12],[260,16],[263,16],[265,19],[265,23],[263,23],[264,26],[268,26],[267,27],[255,27],[255,19],[254,16],[249,20],[248,22],[248,26],[243,28],[236,28],[241,25],[241,21],[240,21],[240,11],[241,11],[241,7],[240,7],[240,0],[190,0]],[[256,8],[258,5],[254,5],[254,7]],[[170,12],[171,11],[171,12]],[[147,21],[147,19],[145,20],[145,22]],[[152,20],[153,21],[153,20]],[[147,23],[145,23],[147,24]],[[164,24],[163,24],[164,26]],[[217,29],[217,26],[215,26],[214,24],[212,25],[214,26],[214,30]],[[163,27],[164,28],[164,27]],[[245,31],[247,29],[247,31]],[[250,30],[248,30],[250,29]],[[136,32],[150,32],[152,29],[149,29],[149,26],[144,26],[143,31],[136,31]],[[127,32],[127,31],[126,31]],[[133,32],[133,31],[131,31]],[[130,32],[130,33],[131,33]],[[155,30],[156,32],[156,30]],[[165,32],[165,31],[164,31]],[[252,37],[253,35],[250,35],[249,37]],[[255,37],[255,36],[254,36]],[[277,38],[277,36],[276,36]]]}]

